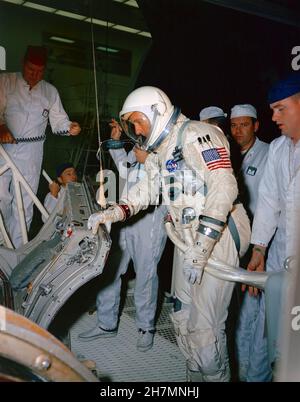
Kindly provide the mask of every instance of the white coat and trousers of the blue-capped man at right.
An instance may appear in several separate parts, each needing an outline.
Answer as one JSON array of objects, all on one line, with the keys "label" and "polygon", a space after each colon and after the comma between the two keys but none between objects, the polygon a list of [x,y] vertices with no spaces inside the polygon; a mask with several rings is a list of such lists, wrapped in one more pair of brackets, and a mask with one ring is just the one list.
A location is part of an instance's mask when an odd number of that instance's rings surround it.
[{"label": "white coat and trousers of the blue-capped man at right", "polygon": [[[290,138],[281,136],[269,147],[251,236],[251,243],[262,246],[268,246],[274,236],[266,261],[268,272],[282,271],[285,259],[296,254],[299,180],[300,141],[294,145]],[[270,381],[272,368],[265,333],[265,295],[262,293],[258,298],[246,296],[246,301],[237,332],[240,379]]]}]

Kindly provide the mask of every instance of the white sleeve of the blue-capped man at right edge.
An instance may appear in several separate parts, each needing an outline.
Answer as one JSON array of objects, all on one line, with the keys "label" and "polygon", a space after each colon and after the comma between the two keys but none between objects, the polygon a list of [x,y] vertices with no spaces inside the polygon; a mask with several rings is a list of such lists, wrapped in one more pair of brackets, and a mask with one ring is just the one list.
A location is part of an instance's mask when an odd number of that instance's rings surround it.
[{"label": "white sleeve of the blue-capped man at right edge", "polygon": [[258,187],[251,243],[267,247],[278,225],[280,198],[276,179],[276,155],[271,143],[266,167]]}]

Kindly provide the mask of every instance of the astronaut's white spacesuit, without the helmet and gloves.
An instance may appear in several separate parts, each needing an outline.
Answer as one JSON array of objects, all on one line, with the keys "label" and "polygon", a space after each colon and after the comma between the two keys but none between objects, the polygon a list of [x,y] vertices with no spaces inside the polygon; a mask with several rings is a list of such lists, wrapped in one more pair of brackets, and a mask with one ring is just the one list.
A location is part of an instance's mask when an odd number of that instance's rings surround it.
[{"label": "astronaut's white spacesuit, without the helmet and gloves", "polygon": [[[148,175],[133,186],[122,201],[136,214],[155,202],[161,185],[163,202],[182,239],[181,218],[185,207],[193,208],[196,216],[202,214],[222,222],[226,222],[232,211],[243,254],[249,245],[250,225],[242,205],[233,207],[238,191],[232,169],[228,165],[222,167],[220,161],[219,165],[217,163],[219,168],[210,170],[204,159],[204,155],[209,159],[209,153],[216,149],[227,153],[229,158],[229,144],[221,130],[205,123],[190,122],[182,139],[184,160],[178,162],[179,166],[173,172],[166,168],[167,162],[173,159],[178,133],[185,120],[183,115],[178,118],[157,154],[147,158]],[[198,219],[191,224],[196,232]],[[238,266],[238,251],[227,225],[211,257]],[[179,268],[182,271],[182,265]],[[182,274],[175,283],[176,297],[183,304],[172,314],[177,341],[187,358],[189,371],[198,372],[204,381],[228,381],[230,378],[225,321],[233,287],[233,283],[216,279],[206,272],[200,285],[187,284]]]}]

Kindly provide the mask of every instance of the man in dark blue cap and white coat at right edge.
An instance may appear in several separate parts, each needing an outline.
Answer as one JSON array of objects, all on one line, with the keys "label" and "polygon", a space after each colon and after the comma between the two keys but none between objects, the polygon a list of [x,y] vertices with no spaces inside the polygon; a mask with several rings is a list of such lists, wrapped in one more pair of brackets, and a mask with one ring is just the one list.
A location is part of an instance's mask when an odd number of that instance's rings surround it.
[{"label": "man in dark blue cap and white coat at right edge", "polygon": [[[272,120],[278,125],[282,136],[270,144],[260,181],[252,227],[253,251],[248,270],[278,272],[284,270],[286,258],[295,256],[297,250],[296,222],[300,216],[300,73],[293,73],[277,82],[269,92],[269,104],[273,111]],[[256,288],[250,287],[249,293],[258,296]],[[252,343],[248,345],[248,356],[239,356],[244,381],[270,381],[272,378],[265,342],[264,294],[259,294],[259,297],[261,309],[252,323]],[[244,319],[247,320],[247,317]]]}]

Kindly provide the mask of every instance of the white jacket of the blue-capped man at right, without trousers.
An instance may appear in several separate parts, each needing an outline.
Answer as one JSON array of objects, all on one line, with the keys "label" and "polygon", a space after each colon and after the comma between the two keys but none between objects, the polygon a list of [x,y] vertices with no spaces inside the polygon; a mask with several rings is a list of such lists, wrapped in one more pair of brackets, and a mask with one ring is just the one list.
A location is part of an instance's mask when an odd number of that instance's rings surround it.
[{"label": "white jacket of the blue-capped man at right, without trousers", "polygon": [[300,141],[294,145],[286,136],[272,141],[259,185],[251,236],[251,243],[267,246],[275,234],[268,253],[267,271],[283,270],[284,260],[296,253],[294,223],[300,212],[299,169]]}]

